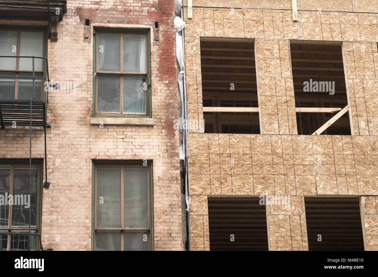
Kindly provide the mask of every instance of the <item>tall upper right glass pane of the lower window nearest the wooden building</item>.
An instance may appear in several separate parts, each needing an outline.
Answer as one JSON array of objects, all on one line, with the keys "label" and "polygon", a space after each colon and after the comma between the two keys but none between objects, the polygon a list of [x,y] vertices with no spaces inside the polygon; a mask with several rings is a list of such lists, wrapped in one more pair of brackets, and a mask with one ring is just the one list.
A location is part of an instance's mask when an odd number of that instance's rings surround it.
[{"label": "tall upper right glass pane of the lower window nearest the wooden building", "polygon": [[124,227],[148,227],[147,167],[124,168]]}]

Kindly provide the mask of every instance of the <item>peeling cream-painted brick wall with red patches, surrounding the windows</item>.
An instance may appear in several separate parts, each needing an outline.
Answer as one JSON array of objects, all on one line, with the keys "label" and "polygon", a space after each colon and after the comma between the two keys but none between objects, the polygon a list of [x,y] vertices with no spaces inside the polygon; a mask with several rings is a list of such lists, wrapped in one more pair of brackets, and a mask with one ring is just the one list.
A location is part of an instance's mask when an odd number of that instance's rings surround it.
[{"label": "peeling cream-painted brick wall with red patches, surrounding the windows", "polygon": [[[143,14],[147,8],[147,14]],[[50,79],[83,84],[93,70],[90,23],[143,24],[151,33],[152,117],[155,125],[90,125],[92,82],[75,93],[51,91],[47,130],[50,189],[43,189],[42,244],[55,250],[91,250],[92,160],[153,160],[155,250],[182,250],[174,1],[71,1],[48,42]],[[14,24],[22,25],[17,21]],[[9,24],[0,20],[0,24]],[[28,22],[24,22],[28,25]],[[122,28],[121,27],[121,28]],[[89,42],[89,43],[88,43]],[[44,157],[43,130],[33,129],[33,157]],[[29,158],[27,128],[0,132],[0,158]]]}]

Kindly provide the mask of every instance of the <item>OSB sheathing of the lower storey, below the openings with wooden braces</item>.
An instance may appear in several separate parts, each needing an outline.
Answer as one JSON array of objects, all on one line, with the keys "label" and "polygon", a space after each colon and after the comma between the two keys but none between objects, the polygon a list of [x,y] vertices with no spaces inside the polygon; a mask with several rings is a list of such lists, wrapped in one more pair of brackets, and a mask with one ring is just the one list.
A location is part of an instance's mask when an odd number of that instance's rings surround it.
[{"label": "OSB sheathing of the lower storey, below the openings with wooden braces", "polygon": [[378,250],[378,138],[188,134],[192,250],[209,250],[208,195],[290,195],[268,206],[271,250],[308,250],[305,195],[365,195],[368,250]]}]

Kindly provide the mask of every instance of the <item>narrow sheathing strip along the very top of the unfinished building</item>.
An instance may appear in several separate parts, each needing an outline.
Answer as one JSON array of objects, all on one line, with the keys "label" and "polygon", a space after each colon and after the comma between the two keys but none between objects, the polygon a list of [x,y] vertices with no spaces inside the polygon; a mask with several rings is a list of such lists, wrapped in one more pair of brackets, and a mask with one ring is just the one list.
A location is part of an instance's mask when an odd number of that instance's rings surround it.
[{"label": "narrow sheathing strip along the very top of the unfinished building", "polygon": [[[187,0],[184,0],[187,6]],[[192,6],[255,8],[255,9],[291,9],[290,0],[193,0]],[[378,12],[376,0],[297,0],[298,10],[342,11],[342,12]]]}]

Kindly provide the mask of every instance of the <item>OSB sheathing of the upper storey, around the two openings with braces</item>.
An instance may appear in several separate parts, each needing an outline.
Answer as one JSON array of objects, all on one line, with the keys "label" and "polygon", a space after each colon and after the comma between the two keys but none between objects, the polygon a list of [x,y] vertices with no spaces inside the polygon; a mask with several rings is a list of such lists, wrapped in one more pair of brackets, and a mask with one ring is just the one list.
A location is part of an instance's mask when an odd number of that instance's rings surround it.
[{"label": "OSB sheathing of the upper storey, around the two openings with braces", "polygon": [[285,10],[193,8],[185,20],[186,85],[188,117],[200,124],[189,132],[203,132],[200,36],[208,36],[255,38],[261,133],[282,135],[297,134],[289,39],[343,41],[354,134],[378,135],[377,15],[298,11],[298,18]]}]

